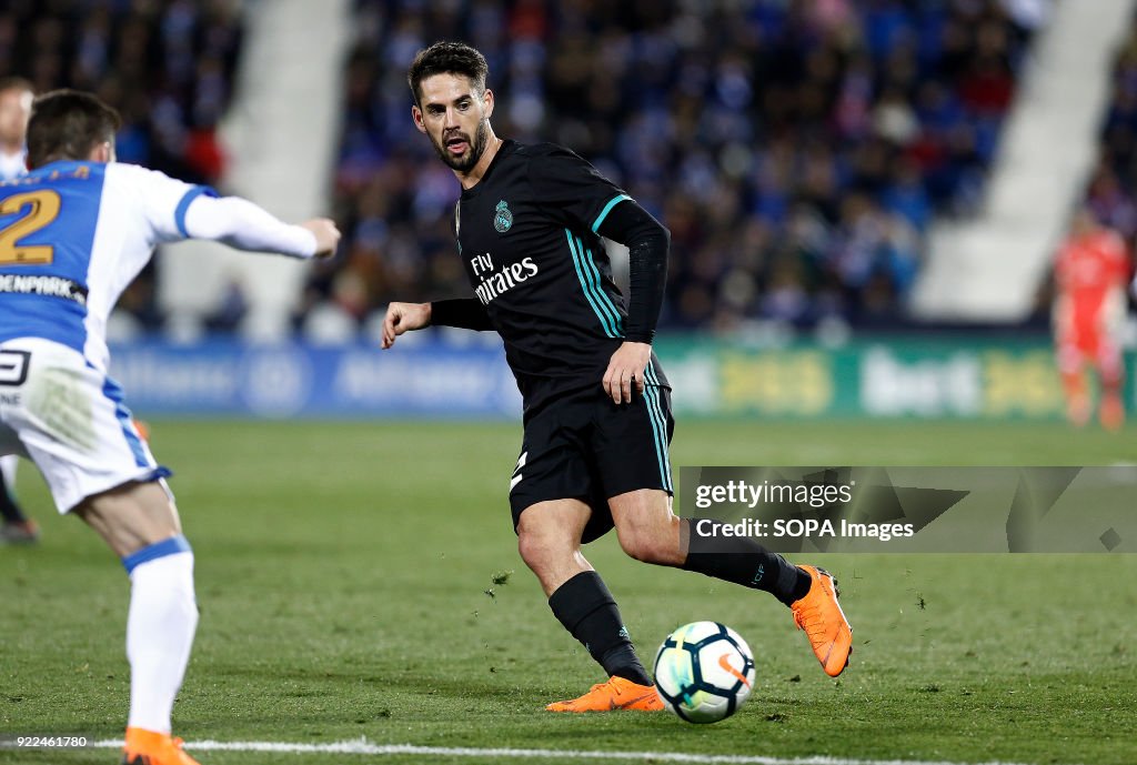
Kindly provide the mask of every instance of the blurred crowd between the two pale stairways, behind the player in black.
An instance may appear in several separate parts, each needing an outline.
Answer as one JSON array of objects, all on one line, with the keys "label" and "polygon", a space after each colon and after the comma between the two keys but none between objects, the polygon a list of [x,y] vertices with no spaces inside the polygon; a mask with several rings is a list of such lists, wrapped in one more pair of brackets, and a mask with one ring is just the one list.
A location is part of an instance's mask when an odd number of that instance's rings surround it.
[{"label": "blurred crowd between the two pale stairways, behind the player in black", "polygon": [[[1041,0],[358,0],[335,211],[306,306],[465,294],[458,186],[406,68],[479,48],[498,135],[571,147],[672,231],[661,325],[890,325],[933,216],[977,209]],[[1134,99],[1137,103],[1137,98]],[[298,319],[302,324],[302,317]]]}]

